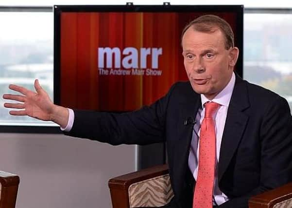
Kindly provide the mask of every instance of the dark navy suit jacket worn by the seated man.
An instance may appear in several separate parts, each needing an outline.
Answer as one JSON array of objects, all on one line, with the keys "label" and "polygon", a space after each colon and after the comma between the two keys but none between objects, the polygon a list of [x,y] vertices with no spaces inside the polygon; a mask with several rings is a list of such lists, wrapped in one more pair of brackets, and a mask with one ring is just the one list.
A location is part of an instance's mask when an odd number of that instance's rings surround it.
[{"label": "dark navy suit jacket worn by the seated man", "polygon": [[[74,111],[66,134],[112,145],[166,142],[174,197],[167,208],[191,208],[195,184],[188,167],[193,124],[201,96],[178,82],[151,106],[131,113]],[[220,208],[247,208],[248,198],[292,181],[292,116],[281,96],[236,76],[227,111],[219,188],[230,199]]]}]

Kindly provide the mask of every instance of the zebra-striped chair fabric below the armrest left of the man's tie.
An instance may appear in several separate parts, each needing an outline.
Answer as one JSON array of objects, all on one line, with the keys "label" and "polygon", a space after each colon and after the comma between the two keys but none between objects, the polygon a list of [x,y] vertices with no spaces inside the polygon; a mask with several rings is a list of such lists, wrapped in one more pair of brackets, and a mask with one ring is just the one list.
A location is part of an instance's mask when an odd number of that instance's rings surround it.
[{"label": "zebra-striped chair fabric below the armrest left of the man's tie", "polygon": [[140,181],[129,187],[130,208],[160,207],[173,197],[169,174]]}]

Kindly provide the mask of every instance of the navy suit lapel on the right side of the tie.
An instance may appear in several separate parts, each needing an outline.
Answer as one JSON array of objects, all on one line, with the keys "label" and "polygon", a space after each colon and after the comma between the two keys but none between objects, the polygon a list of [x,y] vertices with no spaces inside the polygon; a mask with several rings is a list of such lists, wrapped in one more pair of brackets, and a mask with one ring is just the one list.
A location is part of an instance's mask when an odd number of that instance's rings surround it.
[{"label": "navy suit lapel on the right side of the tie", "polygon": [[248,116],[243,113],[243,111],[248,107],[249,100],[246,83],[239,76],[236,76],[236,82],[227,111],[220,148],[218,167],[219,182],[242,138],[248,121]]}]

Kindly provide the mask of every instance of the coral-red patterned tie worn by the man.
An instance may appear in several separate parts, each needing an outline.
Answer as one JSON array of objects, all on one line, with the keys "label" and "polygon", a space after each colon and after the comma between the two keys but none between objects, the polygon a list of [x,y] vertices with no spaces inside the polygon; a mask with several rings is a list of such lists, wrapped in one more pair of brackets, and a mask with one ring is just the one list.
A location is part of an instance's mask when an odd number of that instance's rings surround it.
[{"label": "coral-red patterned tie worn by the man", "polygon": [[215,175],[216,134],[213,114],[220,104],[207,102],[205,117],[201,125],[199,170],[194,191],[193,208],[212,208]]}]

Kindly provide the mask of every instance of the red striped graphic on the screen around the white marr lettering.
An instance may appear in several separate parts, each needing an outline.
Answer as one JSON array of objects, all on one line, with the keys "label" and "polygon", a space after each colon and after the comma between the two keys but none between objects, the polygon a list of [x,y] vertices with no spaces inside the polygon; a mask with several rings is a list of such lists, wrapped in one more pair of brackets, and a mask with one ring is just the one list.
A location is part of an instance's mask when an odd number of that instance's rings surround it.
[{"label": "red striped graphic on the screen around the white marr lettering", "polygon": [[[212,14],[228,21],[236,37],[236,13]],[[62,13],[60,104],[120,112],[153,103],[165,95],[174,82],[188,80],[183,65],[181,32],[186,24],[201,15],[203,13]],[[135,47],[138,51],[141,47],[161,47],[157,70],[162,70],[162,75],[99,75],[99,47],[119,47],[121,52],[126,47]],[[147,68],[150,67],[151,56],[148,56]]]}]

